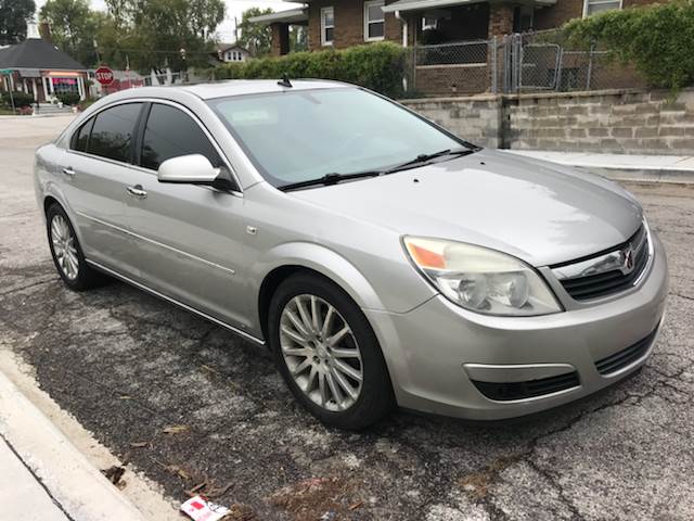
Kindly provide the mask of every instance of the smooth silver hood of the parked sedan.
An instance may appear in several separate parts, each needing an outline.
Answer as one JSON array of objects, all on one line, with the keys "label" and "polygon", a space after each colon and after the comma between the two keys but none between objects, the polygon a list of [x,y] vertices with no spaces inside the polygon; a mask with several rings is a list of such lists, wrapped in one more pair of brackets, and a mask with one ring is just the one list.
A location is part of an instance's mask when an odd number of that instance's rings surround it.
[{"label": "smooth silver hood of the parked sedan", "polygon": [[290,193],[399,234],[478,244],[534,266],[558,264],[620,244],[643,218],[639,203],[612,181],[487,150],[377,178]]}]

